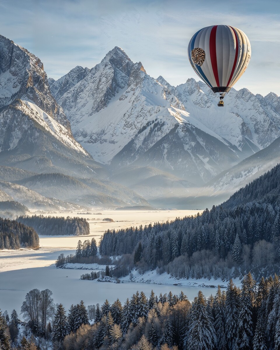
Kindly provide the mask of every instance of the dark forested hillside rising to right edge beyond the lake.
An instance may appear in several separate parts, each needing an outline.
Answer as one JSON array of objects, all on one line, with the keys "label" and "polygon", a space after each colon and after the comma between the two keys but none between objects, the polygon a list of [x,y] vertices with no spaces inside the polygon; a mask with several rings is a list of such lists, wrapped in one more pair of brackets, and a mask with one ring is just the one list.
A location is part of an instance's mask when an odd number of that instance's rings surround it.
[{"label": "dark forested hillside rising to right edge beyond the lake", "polygon": [[140,273],[157,268],[158,273],[187,279],[228,280],[248,271],[257,280],[268,276],[280,267],[279,168],[232,196],[232,207],[236,198],[241,202],[233,209],[213,206],[174,222],[107,231],[100,253],[123,255],[116,276],[128,274],[134,266]]}]

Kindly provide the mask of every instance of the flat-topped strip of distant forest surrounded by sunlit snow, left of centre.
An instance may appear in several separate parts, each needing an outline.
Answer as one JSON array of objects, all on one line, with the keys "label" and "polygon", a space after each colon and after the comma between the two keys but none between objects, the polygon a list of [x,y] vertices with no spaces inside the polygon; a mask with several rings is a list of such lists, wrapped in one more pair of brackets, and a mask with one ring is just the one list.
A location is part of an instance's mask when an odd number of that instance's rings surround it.
[{"label": "flat-topped strip of distant forest surrounded by sunlit snow, left of centre", "polygon": [[58,236],[58,235],[89,235],[90,226],[84,218],[70,216],[58,217],[43,215],[24,215],[18,218],[18,221],[31,226],[39,235]]}]

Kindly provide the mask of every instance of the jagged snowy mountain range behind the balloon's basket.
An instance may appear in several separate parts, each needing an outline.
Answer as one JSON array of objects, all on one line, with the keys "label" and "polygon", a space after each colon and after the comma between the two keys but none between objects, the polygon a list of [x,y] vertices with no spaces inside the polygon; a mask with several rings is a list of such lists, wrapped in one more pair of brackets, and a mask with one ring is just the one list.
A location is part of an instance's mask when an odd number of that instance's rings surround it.
[{"label": "jagged snowy mountain range behind the balloon's basket", "polygon": [[217,96],[202,81],[188,79],[176,87],[159,77],[161,84],[184,104],[196,120],[250,155],[280,136],[280,98],[269,93],[262,97],[247,89],[231,89],[225,105],[217,109]]}]

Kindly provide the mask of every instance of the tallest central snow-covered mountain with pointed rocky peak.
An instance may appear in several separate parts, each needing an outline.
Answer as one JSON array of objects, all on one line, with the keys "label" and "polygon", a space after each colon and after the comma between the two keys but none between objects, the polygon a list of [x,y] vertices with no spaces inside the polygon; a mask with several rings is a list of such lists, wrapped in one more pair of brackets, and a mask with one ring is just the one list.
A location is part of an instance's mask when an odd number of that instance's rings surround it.
[{"label": "tallest central snow-covered mountain with pointed rocky peak", "polygon": [[[50,89],[95,160],[112,169],[154,167],[201,184],[245,158],[121,48],[82,78],[86,71],[76,67]],[[61,96],[62,85],[69,90]]]}]

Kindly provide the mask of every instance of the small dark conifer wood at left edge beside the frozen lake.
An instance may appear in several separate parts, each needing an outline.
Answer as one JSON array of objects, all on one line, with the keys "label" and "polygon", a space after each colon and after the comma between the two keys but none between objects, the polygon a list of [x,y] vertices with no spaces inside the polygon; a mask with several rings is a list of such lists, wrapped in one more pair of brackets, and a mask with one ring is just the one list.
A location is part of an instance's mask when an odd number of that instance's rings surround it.
[{"label": "small dark conifer wood at left edge beside the frozen lake", "polygon": [[20,247],[36,248],[39,237],[33,228],[15,220],[0,217],[0,250],[19,249]]}]

